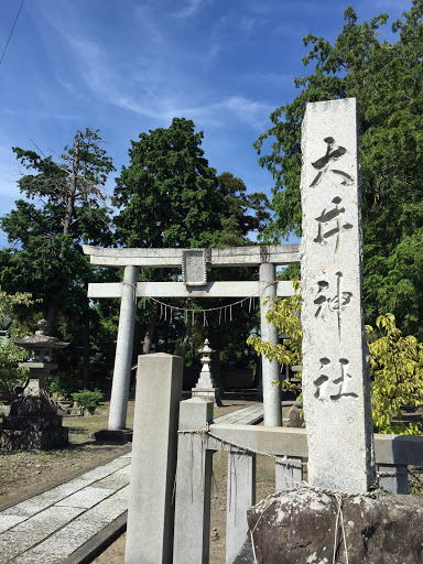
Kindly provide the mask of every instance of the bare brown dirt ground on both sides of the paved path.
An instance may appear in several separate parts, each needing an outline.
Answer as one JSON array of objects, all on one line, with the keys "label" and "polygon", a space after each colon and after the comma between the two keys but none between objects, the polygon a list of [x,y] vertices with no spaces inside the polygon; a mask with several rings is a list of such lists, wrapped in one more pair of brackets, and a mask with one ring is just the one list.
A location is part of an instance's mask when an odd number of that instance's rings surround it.
[{"label": "bare brown dirt ground on both sides of the paved path", "polygon": [[[225,401],[224,408],[215,409],[215,417],[247,405],[247,401]],[[104,444],[89,440],[89,433],[107,426],[108,405],[102,414],[89,417],[64,417],[69,429],[69,446],[58,451],[18,452],[0,454],[0,507],[19,500],[42,488],[52,487],[93,466],[121,456],[131,445]],[[133,402],[128,409],[128,426],[133,423]],[[214,455],[214,477],[212,496],[210,564],[225,562],[225,525],[227,490],[227,454]],[[258,459],[257,500],[262,499],[274,488],[274,466],[267,458]],[[97,564],[123,564],[124,534],[112,543],[95,561]]]}]

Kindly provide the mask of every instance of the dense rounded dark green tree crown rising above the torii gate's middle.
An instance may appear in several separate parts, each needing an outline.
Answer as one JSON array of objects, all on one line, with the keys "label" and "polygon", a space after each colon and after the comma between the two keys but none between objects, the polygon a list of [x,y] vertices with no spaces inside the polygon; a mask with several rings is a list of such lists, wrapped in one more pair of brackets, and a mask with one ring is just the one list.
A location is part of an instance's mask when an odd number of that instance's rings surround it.
[{"label": "dense rounded dark green tree crown rising above the torii gate's middle", "polygon": [[224,209],[216,171],[200,149],[203,132],[174,118],[167,129],[131,141],[130,165],[116,180],[117,237],[128,247],[207,247]]}]

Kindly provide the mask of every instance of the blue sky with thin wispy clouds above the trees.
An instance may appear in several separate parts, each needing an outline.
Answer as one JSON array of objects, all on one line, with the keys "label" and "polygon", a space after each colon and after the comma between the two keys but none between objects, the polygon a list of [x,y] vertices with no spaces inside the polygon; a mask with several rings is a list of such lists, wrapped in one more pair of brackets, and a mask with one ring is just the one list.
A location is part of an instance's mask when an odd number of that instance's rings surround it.
[{"label": "blue sky with thin wispy clouds above the trees", "polygon": [[[302,37],[333,41],[348,4],[359,21],[410,0],[25,0],[0,65],[0,215],[20,197],[12,147],[61,153],[100,129],[120,171],[130,140],[192,119],[218,173],[270,195],[252,142],[291,101],[305,70]],[[0,2],[0,53],[21,0]],[[117,173],[117,174],[118,174]],[[117,175],[115,174],[115,176]],[[107,184],[113,191],[113,176]],[[0,234],[0,246],[6,238]]]}]

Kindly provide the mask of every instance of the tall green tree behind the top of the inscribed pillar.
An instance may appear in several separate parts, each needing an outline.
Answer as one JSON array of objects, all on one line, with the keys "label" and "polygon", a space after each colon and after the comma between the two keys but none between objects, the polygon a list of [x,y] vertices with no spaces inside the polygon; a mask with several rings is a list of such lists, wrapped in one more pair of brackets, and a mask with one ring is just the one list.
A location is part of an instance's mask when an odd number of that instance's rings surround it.
[{"label": "tall green tree behind the top of the inscribed pillar", "polygon": [[[369,322],[392,312],[405,334],[423,337],[423,2],[392,24],[381,40],[381,14],[358,23],[352,8],[332,44],[312,34],[303,59],[313,73],[296,78],[301,90],[272,115],[273,127],[256,142],[260,164],[273,175],[276,218],[268,240],[301,235],[301,122],[308,101],[356,97],[360,106],[360,164],[365,237],[364,300]],[[261,154],[273,139],[271,152]]]}]

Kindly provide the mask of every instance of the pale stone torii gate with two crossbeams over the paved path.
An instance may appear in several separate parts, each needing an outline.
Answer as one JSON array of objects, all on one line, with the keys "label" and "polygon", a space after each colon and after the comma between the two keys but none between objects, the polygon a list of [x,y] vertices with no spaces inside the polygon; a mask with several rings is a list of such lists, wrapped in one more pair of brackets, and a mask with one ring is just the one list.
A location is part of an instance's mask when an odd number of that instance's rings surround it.
[{"label": "pale stone torii gate with two crossbeams over the paved path", "polygon": [[[90,283],[88,297],[120,297],[120,317],[109,431],[123,430],[131,372],[137,297],[250,297],[260,296],[261,338],[278,343],[278,332],[265,321],[267,297],[290,296],[290,282],[276,282],[275,267],[300,263],[299,245],[228,247],[224,249],[104,249],[84,245],[91,264],[124,268],[123,282]],[[207,267],[259,267],[259,281],[208,282]],[[141,268],[182,268],[183,282],[138,282]],[[281,390],[276,360],[262,357],[264,425],[281,426]]]}]

